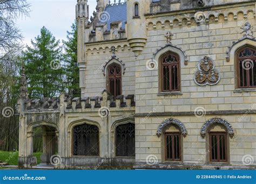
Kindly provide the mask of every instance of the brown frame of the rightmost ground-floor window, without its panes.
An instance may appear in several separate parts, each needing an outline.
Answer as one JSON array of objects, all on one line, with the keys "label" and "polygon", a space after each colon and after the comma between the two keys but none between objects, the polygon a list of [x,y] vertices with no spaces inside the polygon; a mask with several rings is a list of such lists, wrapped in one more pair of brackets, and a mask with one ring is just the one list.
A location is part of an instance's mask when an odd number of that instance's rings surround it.
[{"label": "brown frame of the rightmost ground-floor window, without its panes", "polygon": [[[227,162],[227,133],[226,132],[209,132],[209,146],[210,146],[210,162]],[[212,158],[212,136],[217,136],[217,159]],[[225,151],[225,159],[220,159],[220,136],[224,136],[225,149],[221,149],[222,152]]]}]

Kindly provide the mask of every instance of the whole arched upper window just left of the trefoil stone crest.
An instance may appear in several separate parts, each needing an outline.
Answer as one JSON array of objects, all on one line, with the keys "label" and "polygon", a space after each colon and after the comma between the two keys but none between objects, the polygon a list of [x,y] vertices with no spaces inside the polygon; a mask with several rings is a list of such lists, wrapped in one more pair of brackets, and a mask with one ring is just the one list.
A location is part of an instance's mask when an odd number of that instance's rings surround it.
[{"label": "whole arched upper window just left of the trefoil stone crest", "polygon": [[180,61],[178,54],[168,52],[160,57],[161,91],[180,91]]}]

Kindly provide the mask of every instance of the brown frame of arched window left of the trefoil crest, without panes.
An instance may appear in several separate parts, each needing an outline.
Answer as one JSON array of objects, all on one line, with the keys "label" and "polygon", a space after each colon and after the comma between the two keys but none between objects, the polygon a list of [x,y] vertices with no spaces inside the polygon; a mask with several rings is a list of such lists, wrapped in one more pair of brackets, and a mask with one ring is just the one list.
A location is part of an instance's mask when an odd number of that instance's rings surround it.
[{"label": "brown frame of arched window left of the trefoil crest, without panes", "polygon": [[[168,55],[173,55],[177,58],[177,62],[176,63],[163,63],[164,62],[164,58]],[[165,89],[165,86],[164,86],[164,67],[168,67],[169,68],[169,71],[170,71],[170,68],[172,68],[173,66],[177,66],[177,74],[176,74],[176,77],[177,77],[177,89],[173,89],[172,88],[172,77],[169,75],[169,89]],[[178,92],[181,90],[181,85],[180,85],[180,57],[178,54],[176,53],[173,53],[173,52],[167,52],[165,54],[163,54],[161,57],[160,57],[160,92]],[[167,77],[166,77],[167,78]]]}]

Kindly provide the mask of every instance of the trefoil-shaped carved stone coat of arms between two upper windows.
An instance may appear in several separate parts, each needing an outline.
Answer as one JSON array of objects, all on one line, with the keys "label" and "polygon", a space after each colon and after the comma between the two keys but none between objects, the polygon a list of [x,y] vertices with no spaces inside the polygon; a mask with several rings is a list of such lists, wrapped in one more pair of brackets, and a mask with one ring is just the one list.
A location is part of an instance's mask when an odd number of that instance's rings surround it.
[{"label": "trefoil-shaped carved stone coat of arms between two upper windows", "polygon": [[194,82],[199,86],[215,85],[220,81],[220,74],[215,69],[214,61],[205,56],[204,59],[199,61],[198,70],[194,74]]}]

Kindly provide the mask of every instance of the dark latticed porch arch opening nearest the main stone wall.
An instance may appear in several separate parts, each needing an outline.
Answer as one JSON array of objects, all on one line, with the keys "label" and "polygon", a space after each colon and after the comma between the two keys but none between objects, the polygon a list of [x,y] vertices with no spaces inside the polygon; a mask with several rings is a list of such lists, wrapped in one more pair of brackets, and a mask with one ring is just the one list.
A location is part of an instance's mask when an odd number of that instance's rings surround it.
[{"label": "dark latticed porch arch opening nearest the main stone wall", "polygon": [[135,125],[133,123],[117,126],[116,156],[135,157]]}]

